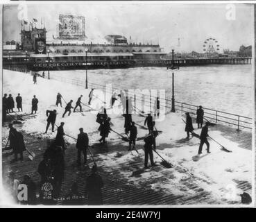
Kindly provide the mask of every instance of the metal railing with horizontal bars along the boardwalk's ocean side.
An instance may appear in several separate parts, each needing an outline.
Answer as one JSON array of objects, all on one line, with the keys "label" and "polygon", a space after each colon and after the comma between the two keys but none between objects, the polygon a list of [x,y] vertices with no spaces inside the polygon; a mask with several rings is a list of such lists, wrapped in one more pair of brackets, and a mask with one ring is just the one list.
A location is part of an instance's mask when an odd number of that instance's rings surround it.
[{"label": "metal railing with horizontal bars along the boardwalk's ocean side", "polygon": [[[80,80],[80,79],[70,79],[70,78],[64,78],[61,76],[58,77],[53,77],[56,80],[60,80],[65,83],[71,83],[73,85],[85,87],[85,80]],[[106,90],[105,85],[101,85],[98,83],[88,83],[88,87],[90,88],[96,88],[96,89],[104,89]],[[112,87],[112,90],[120,90],[118,88]],[[110,92],[112,93],[112,92]],[[139,94],[139,93],[138,93]],[[142,103],[146,103],[147,105],[151,105],[152,103],[155,102],[156,97],[147,95],[147,94],[140,94],[142,96]],[[169,109],[169,112],[171,110],[171,100],[169,99],[164,99],[165,103],[164,105],[160,103],[160,105],[164,106],[164,108]],[[196,116],[196,110],[198,109],[198,105],[192,105],[189,103],[182,103],[179,101],[175,102],[175,107],[176,110],[182,112],[189,112],[191,115]],[[238,114],[232,114],[230,112],[223,112],[220,110],[214,110],[211,108],[203,108],[204,110],[204,117],[207,119],[207,121],[214,121],[215,123],[225,123],[228,124],[228,126],[236,126],[237,130],[241,130],[241,128],[246,128],[246,129],[252,129],[253,127],[253,119],[250,117],[244,117],[242,115]],[[167,111],[168,112],[168,111]]]}]

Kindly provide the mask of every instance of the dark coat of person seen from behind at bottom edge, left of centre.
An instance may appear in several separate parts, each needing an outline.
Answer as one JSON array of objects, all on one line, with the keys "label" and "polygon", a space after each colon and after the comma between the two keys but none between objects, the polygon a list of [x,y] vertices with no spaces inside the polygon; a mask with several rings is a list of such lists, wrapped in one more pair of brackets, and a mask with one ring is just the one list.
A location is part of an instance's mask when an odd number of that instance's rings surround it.
[{"label": "dark coat of person seen from behind at bottom edge, left of centre", "polygon": [[92,173],[86,179],[86,191],[88,195],[88,205],[102,205],[102,193],[101,188],[103,187],[103,180],[97,173]]}]

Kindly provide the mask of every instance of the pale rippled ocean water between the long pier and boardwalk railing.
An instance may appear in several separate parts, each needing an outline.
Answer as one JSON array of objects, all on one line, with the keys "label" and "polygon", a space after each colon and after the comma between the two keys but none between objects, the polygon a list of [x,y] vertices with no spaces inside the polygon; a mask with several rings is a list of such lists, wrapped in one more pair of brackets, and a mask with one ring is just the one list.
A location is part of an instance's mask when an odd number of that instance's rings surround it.
[{"label": "pale rippled ocean water between the long pier and boardwalk railing", "polygon": [[[174,71],[175,99],[205,108],[253,116],[252,65],[180,67]],[[172,71],[164,67],[88,70],[88,82],[119,89],[165,89],[171,99]],[[51,71],[51,77],[82,80],[85,70]]]}]

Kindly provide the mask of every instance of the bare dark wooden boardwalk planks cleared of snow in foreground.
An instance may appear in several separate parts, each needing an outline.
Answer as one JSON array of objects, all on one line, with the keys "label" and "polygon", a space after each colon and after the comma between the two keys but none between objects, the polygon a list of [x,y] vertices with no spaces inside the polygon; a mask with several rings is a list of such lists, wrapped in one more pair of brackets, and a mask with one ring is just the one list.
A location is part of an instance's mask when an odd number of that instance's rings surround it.
[{"label": "bare dark wooden boardwalk planks cleared of snow in foreground", "polygon": [[[8,155],[8,151],[3,153],[3,176],[10,170],[17,172],[17,179],[22,181],[25,174],[29,174],[33,180],[37,183],[40,182],[40,176],[37,173],[37,166],[42,160],[42,155],[47,146],[47,139],[40,139],[33,135],[29,135],[22,131],[22,124],[15,125],[15,128],[23,133],[24,139],[26,140],[26,147],[36,154],[35,160],[28,160],[28,154],[24,153],[24,161],[16,162],[10,164],[12,156]],[[228,129],[225,129],[228,130]],[[223,133],[225,133],[223,128]],[[230,131],[229,131],[230,132]],[[244,134],[244,133],[243,133]],[[249,133],[245,133],[246,146],[244,148],[249,148],[248,138],[251,137]],[[242,139],[243,137],[241,137]],[[5,141],[6,138],[3,138]],[[125,154],[127,153],[127,147],[122,145],[122,142],[109,140],[108,148],[103,148],[100,146],[94,146],[92,152],[94,154],[94,159],[96,162],[102,162],[104,159],[104,154],[117,153]],[[241,142],[242,144],[242,142]],[[4,145],[4,144],[3,144]],[[142,147],[138,147],[142,148]],[[88,153],[87,153],[88,154]],[[73,182],[78,183],[78,190],[81,194],[85,194],[85,179],[89,176],[90,170],[87,167],[81,167],[78,169],[76,167],[76,148],[74,144],[71,144],[65,154],[65,180],[62,183],[62,195],[65,196],[69,191]],[[117,155],[118,156],[118,155]],[[88,164],[92,167],[92,160],[88,154]],[[139,186],[130,182],[127,178],[123,177],[122,172],[130,169],[131,177],[138,177],[141,175],[133,175],[134,171],[139,171],[144,167],[144,157],[141,159],[135,157],[133,162],[123,162],[117,164],[114,167],[109,166],[99,166],[99,174],[103,178],[105,187],[103,188],[103,204],[104,205],[198,205],[198,204],[220,204],[214,196],[209,191],[205,191],[200,187],[196,181],[202,180],[202,178],[197,178],[192,173],[189,173],[187,169],[181,166],[176,166],[174,171],[179,173],[186,173],[189,175],[187,178],[182,180],[182,186],[187,187],[189,190],[195,191],[193,195],[176,194],[175,191],[170,193],[165,189],[152,189],[155,183],[161,182],[162,184],[171,183],[173,175],[173,170],[166,169],[162,165],[157,165],[151,169],[152,172],[157,173],[157,176],[152,178],[147,178],[139,180]],[[114,160],[113,160],[114,161]],[[251,192],[251,185],[247,181],[234,181],[237,182],[237,188],[241,188],[244,191]],[[58,204],[62,204],[62,201],[58,201]],[[87,204],[87,199],[85,198],[85,204]],[[227,203],[228,204],[228,203]],[[232,204],[230,202],[230,204]]]}]

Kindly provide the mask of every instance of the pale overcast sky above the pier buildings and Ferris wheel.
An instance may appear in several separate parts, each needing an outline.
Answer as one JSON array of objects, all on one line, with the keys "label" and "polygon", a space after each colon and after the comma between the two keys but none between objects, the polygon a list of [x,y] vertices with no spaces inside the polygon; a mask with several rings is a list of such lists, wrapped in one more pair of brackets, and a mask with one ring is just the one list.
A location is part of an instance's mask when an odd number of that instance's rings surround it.
[{"label": "pale overcast sky above the pier buildings and Ferris wheel", "polygon": [[[79,5],[78,5],[79,4]],[[173,4],[169,2],[108,2],[27,5],[28,21],[40,23],[44,18],[47,38],[56,36],[58,15],[85,16],[85,34],[90,38],[108,34],[125,35],[139,43],[159,44],[164,51],[203,52],[203,42],[216,38],[222,49],[239,50],[239,46],[253,44],[253,6],[235,5],[234,19],[227,19],[227,4]],[[22,15],[18,6],[5,6],[3,10],[3,41],[20,41]],[[19,16],[18,16],[19,15]],[[40,27],[40,25],[38,26]],[[178,47],[180,38],[180,47]]]}]

